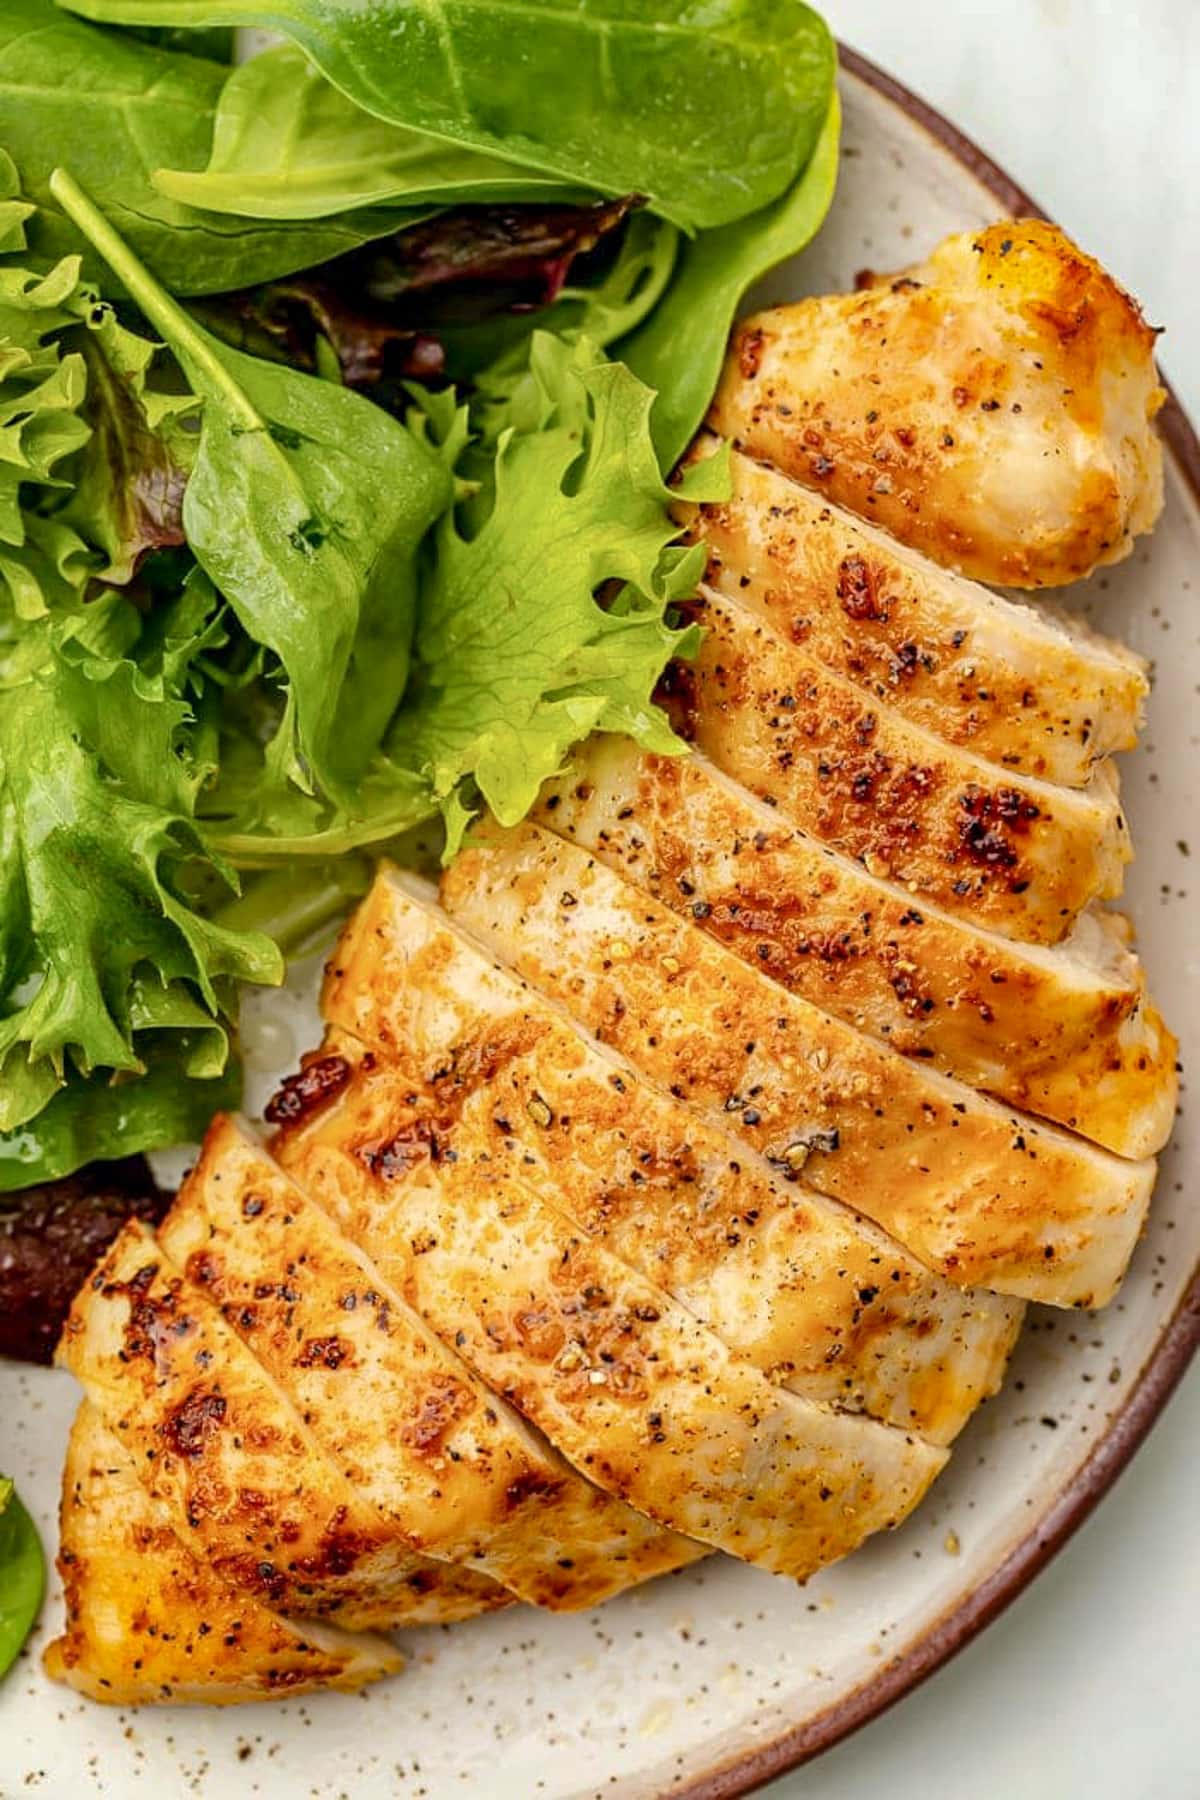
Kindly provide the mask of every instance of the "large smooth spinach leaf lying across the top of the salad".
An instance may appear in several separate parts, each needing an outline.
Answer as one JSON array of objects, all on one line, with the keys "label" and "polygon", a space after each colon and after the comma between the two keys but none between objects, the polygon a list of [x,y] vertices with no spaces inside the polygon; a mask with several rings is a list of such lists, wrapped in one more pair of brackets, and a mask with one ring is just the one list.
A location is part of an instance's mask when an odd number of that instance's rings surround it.
[{"label": "large smooth spinach leaf lying across the top of the salad", "polygon": [[108,23],[268,25],[380,119],[601,193],[646,194],[689,230],[792,184],[833,85],[833,40],[802,0],[68,4]]}]

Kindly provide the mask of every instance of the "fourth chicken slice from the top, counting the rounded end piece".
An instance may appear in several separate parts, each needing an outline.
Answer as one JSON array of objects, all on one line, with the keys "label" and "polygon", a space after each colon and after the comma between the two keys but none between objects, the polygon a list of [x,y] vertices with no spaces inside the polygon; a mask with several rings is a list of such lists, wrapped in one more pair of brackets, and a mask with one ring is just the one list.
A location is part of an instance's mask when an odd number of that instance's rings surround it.
[{"label": "fourth chicken slice from the top, counting the rounded end piece", "polygon": [[703,756],[596,736],[536,817],[790,992],[1121,1156],[1162,1147],[1175,1039],[1114,922],[1013,943],[792,830]]}]

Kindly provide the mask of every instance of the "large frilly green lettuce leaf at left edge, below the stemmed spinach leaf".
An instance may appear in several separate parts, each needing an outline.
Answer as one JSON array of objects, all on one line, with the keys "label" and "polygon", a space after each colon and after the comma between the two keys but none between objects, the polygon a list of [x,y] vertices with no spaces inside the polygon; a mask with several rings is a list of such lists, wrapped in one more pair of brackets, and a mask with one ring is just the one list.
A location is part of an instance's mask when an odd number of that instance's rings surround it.
[{"label": "large frilly green lettuce leaf at left edge, below the stemmed spinach leaf", "polygon": [[268,938],[189,898],[198,873],[236,880],[193,819],[209,769],[184,684],[214,637],[205,603],[185,592],[139,661],[137,608],[110,590],[27,628],[0,693],[4,1132],[77,1076],[144,1073],[148,1037],[182,1073],[218,1076],[236,983],[282,976]]}]

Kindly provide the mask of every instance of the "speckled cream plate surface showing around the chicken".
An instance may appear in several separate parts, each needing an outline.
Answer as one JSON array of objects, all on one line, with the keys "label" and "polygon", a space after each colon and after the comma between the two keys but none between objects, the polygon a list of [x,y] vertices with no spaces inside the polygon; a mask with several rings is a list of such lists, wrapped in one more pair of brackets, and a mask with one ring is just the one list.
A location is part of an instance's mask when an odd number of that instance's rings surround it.
[{"label": "speckled cream plate surface showing around the chicken", "polygon": [[[945,232],[1029,202],[903,90],[847,59],[846,151],[820,239],[759,295],[847,286]],[[1070,225],[1070,221],[1065,221]],[[1177,322],[1182,329],[1182,320]],[[1078,596],[1155,662],[1124,794],[1128,884],[1151,985],[1200,1048],[1200,450],[1168,412],[1168,504],[1153,540]],[[1191,850],[1191,859],[1189,859]],[[266,1003],[257,1094],[315,1035],[311,981]],[[747,1793],[896,1699],[981,1629],[1074,1530],[1137,1447],[1200,1330],[1200,1211],[1182,1116],[1148,1235],[1103,1314],[1034,1309],[1004,1393],[961,1438],[909,1525],[801,1589],[712,1561],[581,1618],[509,1613],[414,1633],[410,1667],[360,1697],[205,1714],[108,1712],[52,1687],[43,1638],[0,1688],[0,1800],[585,1800]],[[54,1543],[76,1390],[0,1366],[0,1463]],[[52,1591],[43,1633],[58,1627]]]}]

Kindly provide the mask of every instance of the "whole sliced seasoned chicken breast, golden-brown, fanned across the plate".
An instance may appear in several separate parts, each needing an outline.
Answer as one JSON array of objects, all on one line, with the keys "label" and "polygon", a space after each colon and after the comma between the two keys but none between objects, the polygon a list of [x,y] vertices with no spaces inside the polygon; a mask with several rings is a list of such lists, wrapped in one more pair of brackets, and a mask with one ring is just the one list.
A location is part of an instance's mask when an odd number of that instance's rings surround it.
[{"label": "whole sliced seasoned chicken breast, golden-brown, fanned across the plate", "polygon": [[1038,221],[738,329],[693,752],[594,736],[441,905],[385,868],[270,1148],[216,1120],[108,1249],[52,1674],[356,1687],[394,1660],[338,1627],[804,1579],[918,1505],[1025,1298],[1112,1296],[1177,1094],[1092,905],[1146,671],[968,576],[1148,529],[1151,344]]}]

